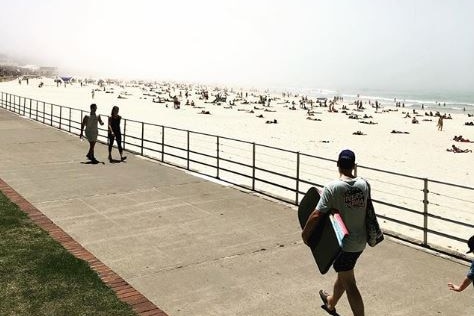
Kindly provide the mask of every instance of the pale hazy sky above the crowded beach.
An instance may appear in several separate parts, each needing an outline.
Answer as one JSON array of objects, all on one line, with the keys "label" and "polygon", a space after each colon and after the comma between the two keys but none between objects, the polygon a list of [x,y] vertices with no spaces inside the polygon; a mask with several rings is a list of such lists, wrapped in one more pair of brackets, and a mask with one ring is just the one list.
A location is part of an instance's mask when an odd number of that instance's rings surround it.
[{"label": "pale hazy sky above the crowded beach", "polygon": [[0,0],[0,53],[65,74],[474,87],[471,0]]}]

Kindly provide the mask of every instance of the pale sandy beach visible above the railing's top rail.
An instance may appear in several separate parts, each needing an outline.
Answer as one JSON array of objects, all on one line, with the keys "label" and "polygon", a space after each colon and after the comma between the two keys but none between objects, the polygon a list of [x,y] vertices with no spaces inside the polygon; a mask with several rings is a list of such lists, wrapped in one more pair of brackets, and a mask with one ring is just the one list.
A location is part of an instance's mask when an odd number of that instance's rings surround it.
[{"label": "pale sandy beach visible above the railing's top rail", "polygon": [[[341,149],[351,148],[357,154],[359,165],[467,186],[474,185],[472,171],[467,168],[467,163],[472,161],[473,155],[446,151],[453,144],[463,149],[474,149],[474,143],[453,140],[454,136],[462,135],[463,138],[474,141],[474,127],[465,125],[465,122],[474,121],[474,117],[468,116],[474,113],[474,109],[451,114],[452,119],[444,120],[443,131],[438,131],[438,117],[425,116],[425,112],[429,112],[428,109],[413,109],[408,105],[406,108],[395,107],[394,102],[381,104],[376,112],[375,108],[367,103],[368,100],[362,100],[365,110],[359,111],[351,104],[353,100],[338,101],[335,105],[337,113],[328,112],[328,107],[319,107],[313,103],[314,115],[308,116],[307,110],[299,107],[301,96],[272,95],[270,106],[267,107],[256,103],[258,96],[265,94],[264,92],[247,91],[248,97],[245,97],[246,92],[243,91],[244,99],[249,104],[243,104],[241,100],[235,101],[235,105],[231,107],[229,101],[238,98],[236,92],[228,92],[227,102],[212,104],[210,102],[215,96],[210,95],[209,101],[205,103],[205,100],[199,99],[197,86],[183,85],[183,89],[179,89],[177,85],[173,87],[170,84],[169,94],[177,95],[181,102],[180,109],[174,109],[172,102],[153,103],[152,95],[158,94],[142,90],[143,87],[121,88],[110,85],[106,86],[107,91],[104,92],[97,85],[81,87],[76,83],[65,88],[62,85],[56,87],[51,79],[42,81],[45,82],[42,88],[38,88],[38,80],[30,80],[29,85],[19,85],[17,81],[1,83],[0,90],[85,111],[91,103],[96,103],[98,112],[104,116],[109,115],[112,106],[117,105],[120,107],[120,114],[127,119],[233,137],[331,159],[335,159]],[[188,97],[190,102],[195,103],[194,107],[185,105],[184,87],[194,88],[189,91]],[[102,91],[95,91],[92,99],[92,89]],[[219,92],[208,89],[211,94]],[[240,92],[237,89],[234,91]],[[223,89],[220,92],[222,93]],[[123,99],[118,98],[120,93]],[[169,99],[168,93],[160,96]],[[296,110],[290,109],[291,102],[295,103]],[[344,105],[348,108],[347,113],[343,113]],[[308,103],[306,106],[310,107]],[[413,110],[418,114],[413,114]],[[201,111],[209,111],[210,115],[200,115]],[[448,111],[449,109],[441,114],[449,113]],[[410,114],[410,118],[405,118],[406,112]],[[351,114],[357,115],[358,118],[351,119]],[[259,115],[263,117],[260,118]],[[364,115],[368,118],[364,119]],[[417,118],[418,124],[412,124],[413,117]],[[277,124],[265,124],[266,121],[274,119]],[[376,124],[363,124],[371,121]],[[393,130],[403,133],[391,133]],[[357,131],[364,135],[354,135]]]}]

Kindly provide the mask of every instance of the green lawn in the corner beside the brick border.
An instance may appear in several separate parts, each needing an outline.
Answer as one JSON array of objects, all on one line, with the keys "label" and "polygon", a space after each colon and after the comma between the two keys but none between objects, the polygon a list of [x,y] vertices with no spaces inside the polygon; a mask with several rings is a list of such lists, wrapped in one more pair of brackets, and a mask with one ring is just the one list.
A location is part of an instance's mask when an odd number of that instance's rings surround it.
[{"label": "green lawn in the corner beside the brick border", "polygon": [[136,315],[0,192],[0,315]]}]

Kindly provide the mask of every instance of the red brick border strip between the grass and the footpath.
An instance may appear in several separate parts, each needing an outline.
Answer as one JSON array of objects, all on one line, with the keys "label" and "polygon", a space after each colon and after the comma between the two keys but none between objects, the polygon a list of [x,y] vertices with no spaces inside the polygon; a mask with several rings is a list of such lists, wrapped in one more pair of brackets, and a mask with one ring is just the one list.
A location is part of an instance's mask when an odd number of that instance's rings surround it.
[{"label": "red brick border strip between the grass and the footpath", "polygon": [[25,212],[28,217],[39,227],[59,242],[67,251],[76,258],[86,261],[92,270],[97,272],[100,279],[110,287],[117,297],[132,306],[138,315],[143,316],[168,316],[155,304],[150,302],[143,294],[122,279],[117,273],[97,259],[92,253],[82,247],[77,241],[69,236],[64,230],[53,223],[46,215],[34,207],[23,196],[16,192],[11,186],[0,178],[0,191],[13,203]]}]

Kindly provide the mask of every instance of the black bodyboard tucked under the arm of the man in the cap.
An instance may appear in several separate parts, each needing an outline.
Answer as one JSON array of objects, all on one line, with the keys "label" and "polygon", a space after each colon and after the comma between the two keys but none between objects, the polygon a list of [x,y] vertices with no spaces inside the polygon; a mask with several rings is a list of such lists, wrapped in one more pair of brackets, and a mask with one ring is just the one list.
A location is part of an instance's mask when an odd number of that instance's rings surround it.
[{"label": "black bodyboard tucked under the arm of the man in the cap", "polygon": [[[319,198],[318,190],[312,187],[301,200],[298,207],[298,220],[301,229],[304,228],[308,217],[316,209]],[[347,235],[347,229],[338,216],[338,214],[336,217],[332,214],[322,215],[308,242],[321,274],[325,274],[331,268],[342,250],[342,239]]]}]

